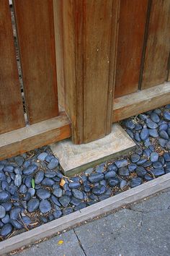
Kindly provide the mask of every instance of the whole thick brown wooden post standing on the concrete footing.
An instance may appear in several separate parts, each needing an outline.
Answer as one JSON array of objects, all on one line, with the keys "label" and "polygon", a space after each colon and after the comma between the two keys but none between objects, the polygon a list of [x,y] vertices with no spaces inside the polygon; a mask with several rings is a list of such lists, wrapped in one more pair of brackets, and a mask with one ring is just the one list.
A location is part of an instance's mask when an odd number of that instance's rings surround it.
[{"label": "whole thick brown wooden post standing on the concrete footing", "polygon": [[72,140],[76,144],[97,140],[111,131],[120,0],[53,2],[54,17],[58,6],[62,13],[58,22],[62,33],[58,33],[62,34],[64,101]]}]

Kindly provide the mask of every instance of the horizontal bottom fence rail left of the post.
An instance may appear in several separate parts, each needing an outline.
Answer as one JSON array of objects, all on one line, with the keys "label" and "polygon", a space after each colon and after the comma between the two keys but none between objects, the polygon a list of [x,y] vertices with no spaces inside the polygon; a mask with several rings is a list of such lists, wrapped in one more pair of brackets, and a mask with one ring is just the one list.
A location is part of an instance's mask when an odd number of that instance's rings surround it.
[{"label": "horizontal bottom fence rail left of the post", "polygon": [[61,113],[53,119],[0,135],[0,160],[71,137],[70,121]]}]

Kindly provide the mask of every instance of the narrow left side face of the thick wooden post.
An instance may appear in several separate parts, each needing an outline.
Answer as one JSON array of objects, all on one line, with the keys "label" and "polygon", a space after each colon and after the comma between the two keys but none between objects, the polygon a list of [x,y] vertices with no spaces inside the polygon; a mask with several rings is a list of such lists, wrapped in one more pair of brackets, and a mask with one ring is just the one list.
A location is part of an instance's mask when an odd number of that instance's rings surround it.
[{"label": "narrow left side face of the thick wooden post", "polygon": [[65,109],[71,119],[72,140],[83,142],[84,71],[83,13],[84,1],[60,1],[63,10],[63,69]]}]

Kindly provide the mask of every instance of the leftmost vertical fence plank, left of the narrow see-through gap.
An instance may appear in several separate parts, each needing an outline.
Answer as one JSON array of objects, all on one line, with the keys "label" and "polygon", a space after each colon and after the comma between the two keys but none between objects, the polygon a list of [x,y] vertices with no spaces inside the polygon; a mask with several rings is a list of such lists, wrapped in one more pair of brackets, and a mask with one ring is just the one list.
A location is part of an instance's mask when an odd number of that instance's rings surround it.
[{"label": "leftmost vertical fence plank, left of the narrow see-through gap", "polygon": [[9,1],[0,1],[0,134],[24,127]]}]

